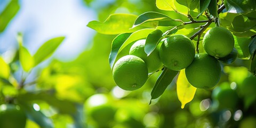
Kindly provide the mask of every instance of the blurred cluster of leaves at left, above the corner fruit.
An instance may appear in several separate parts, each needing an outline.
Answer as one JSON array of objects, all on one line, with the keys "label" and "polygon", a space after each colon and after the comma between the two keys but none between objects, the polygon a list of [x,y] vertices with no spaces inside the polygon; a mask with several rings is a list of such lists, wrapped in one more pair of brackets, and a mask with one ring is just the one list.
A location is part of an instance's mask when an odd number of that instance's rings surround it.
[{"label": "blurred cluster of leaves at left, above the corner fruit", "polygon": [[[57,99],[51,98],[48,91],[28,91],[25,89],[25,87],[35,85],[37,82],[36,78],[32,81],[30,79],[30,82],[27,81],[31,70],[35,69],[39,63],[42,63],[47,58],[51,57],[53,52],[58,48],[65,37],[56,37],[46,41],[41,47],[39,47],[34,55],[31,55],[28,49],[22,45],[21,34],[18,34],[17,39],[19,49],[14,55],[13,59],[7,63],[3,57],[0,57],[0,102],[1,104],[6,102],[18,103],[18,105],[20,105],[20,107],[26,111],[26,114],[31,121],[36,122],[42,127],[53,127],[52,121],[42,114],[41,111],[35,110],[31,102],[34,100],[42,100],[57,107],[66,102],[61,102]],[[19,69],[19,65],[23,70]],[[22,72],[21,75],[17,76],[20,71]],[[58,103],[60,103],[60,105],[58,105]],[[71,103],[66,103],[65,106],[69,106],[69,111],[75,111],[75,107],[72,106]],[[62,110],[60,109],[60,111]]]}]

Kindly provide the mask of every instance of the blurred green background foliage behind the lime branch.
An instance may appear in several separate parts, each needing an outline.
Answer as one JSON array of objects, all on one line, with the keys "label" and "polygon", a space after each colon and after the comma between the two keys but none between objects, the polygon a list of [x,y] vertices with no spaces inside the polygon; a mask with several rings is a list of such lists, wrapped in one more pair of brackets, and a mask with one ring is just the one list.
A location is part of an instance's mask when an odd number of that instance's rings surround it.
[{"label": "blurred green background foliage behind the lime branch", "polygon": [[[155,0],[81,0],[81,4],[94,10],[99,21],[113,13],[174,13],[158,10]],[[0,10],[0,34],[20,9],[18,0],[6,5]],[[14,31],[18,32],[22,33]],[[11,76],[0,74],[0,104],[21,106],[28,117],[26,127],[256,127],[256,80],[246,60],[222,64],[218,86],[207,91],[198,89],[184,109],[180,108],[175,82],[148,105],[159,73],[139,90],[129,92],[117,87],[108,62],[115,36],[96,33],[74,60],[50,58],[28,73],[22,71],[18,49],[14,50],[9,61],[4,58]],[[23,81],[26,77],[32,78]]]}]

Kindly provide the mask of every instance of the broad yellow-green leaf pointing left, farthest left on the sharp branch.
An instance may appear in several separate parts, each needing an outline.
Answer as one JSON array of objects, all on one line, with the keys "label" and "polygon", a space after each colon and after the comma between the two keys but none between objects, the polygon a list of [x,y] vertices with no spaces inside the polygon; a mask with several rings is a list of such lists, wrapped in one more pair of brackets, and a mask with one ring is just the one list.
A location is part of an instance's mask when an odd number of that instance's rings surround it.
[{"label": "broad yellow-green leaf pointing left, farthest left on the sharp branch", "polygon": [[116,35],[121,33],[132,33],[141,28],[132,28],[137,15],[134,14],[111,14],[104,22],[91,21],[88,27],[101,34]]}]

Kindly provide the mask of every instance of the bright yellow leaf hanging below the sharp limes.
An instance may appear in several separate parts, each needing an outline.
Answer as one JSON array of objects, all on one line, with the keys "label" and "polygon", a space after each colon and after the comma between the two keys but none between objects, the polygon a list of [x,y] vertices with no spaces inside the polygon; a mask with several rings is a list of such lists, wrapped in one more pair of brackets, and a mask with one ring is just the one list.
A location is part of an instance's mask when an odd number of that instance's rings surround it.
[{"label": "bright yellow leaf hanging below the sharp limes", "polygon": [[180,70],[177,79],[177,95],[181,102],[181,108],[183,109],[186,103],[193,100],[196,93],[196,87],[192,86],[185,75],[185,69]]}]

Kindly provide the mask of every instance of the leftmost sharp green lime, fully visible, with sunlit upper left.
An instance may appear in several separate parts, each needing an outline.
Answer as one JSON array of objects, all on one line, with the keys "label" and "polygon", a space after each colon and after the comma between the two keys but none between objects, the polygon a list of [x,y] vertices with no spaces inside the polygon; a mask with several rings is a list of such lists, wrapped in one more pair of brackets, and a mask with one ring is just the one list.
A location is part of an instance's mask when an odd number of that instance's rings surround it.
[{"label": "leftmost sharp green lime, fully visible, with sunlit upper left", "polygon": [[148,68],[141,58],[135,55],[125,55],[115,63],[113,77],[121,89],[137,90],[146,83]]}]

